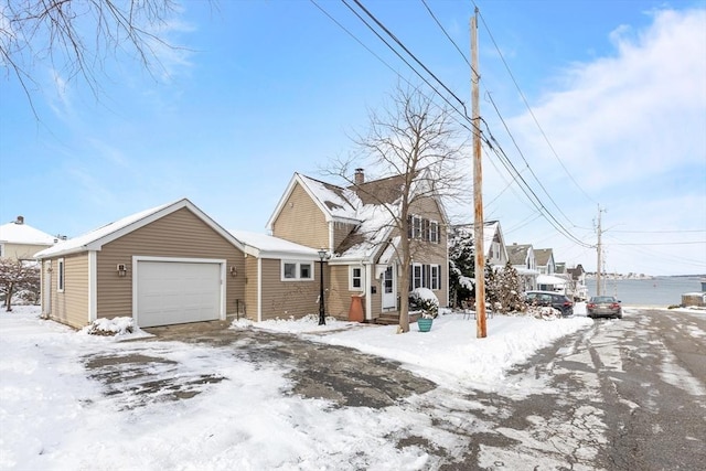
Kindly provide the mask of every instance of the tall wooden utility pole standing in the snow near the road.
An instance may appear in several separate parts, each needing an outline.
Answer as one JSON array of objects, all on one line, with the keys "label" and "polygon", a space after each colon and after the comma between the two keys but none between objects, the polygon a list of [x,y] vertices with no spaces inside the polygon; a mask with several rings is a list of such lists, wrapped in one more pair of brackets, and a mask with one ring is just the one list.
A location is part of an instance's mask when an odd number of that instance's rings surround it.
[{"label": "tall wooden utility pole standing in the snow near the road", "polygon": [[481,111],[478,73],[478,7],[471,17],[471,124],[473,125],[473,247],[475,249],[475,336],[488,335],[485,327],[485,254],[483,251],[483,168],[481,164]]}]

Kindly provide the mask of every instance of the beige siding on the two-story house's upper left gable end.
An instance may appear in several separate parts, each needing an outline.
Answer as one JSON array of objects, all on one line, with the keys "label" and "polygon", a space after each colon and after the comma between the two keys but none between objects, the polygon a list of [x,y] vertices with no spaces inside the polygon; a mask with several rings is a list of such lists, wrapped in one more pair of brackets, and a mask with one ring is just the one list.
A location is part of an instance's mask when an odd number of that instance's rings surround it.
[{"label": "beige siding on the two-story house's upper left gable end", "polygon": [[325,216],[299,183],[272,223],[272,235],[312,248],[329,246]]}]

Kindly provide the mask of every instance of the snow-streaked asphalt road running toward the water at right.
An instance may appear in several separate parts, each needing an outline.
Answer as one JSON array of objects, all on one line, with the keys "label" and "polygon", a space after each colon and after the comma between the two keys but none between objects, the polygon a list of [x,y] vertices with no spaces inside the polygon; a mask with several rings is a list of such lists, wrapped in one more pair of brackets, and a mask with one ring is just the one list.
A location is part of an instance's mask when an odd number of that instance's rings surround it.
[{"label": "snow-streaked asphalt road running toward the water at right", "polygon": [[704,469],[704,332],[703,315],[627,310],[546,349],[507,376],[507,389],[475,396],[494,413],[463,465]]}]

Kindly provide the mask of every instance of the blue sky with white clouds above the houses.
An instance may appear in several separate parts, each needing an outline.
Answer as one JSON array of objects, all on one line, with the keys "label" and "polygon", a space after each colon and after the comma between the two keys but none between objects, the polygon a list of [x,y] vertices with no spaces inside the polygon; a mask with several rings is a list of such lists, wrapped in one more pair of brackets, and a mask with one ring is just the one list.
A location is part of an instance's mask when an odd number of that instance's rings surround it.
[{"label": "blue sky with white clouds above the houses", "polygon": [[[472,2],[364,4],[470,109]],[[600,217],[607,271],[706,274],[706,1],[475,4],[485,137],[512,162],[484,147],[484,218],[595,271]],[[3,71],[0,222],[73,237],[188,197],[265,232],[295,172],[327,179],[422,83],[343,2],[185,1],[153,31],[180,49],[99,56],[94,88],[38,55],[30,103]]]}]

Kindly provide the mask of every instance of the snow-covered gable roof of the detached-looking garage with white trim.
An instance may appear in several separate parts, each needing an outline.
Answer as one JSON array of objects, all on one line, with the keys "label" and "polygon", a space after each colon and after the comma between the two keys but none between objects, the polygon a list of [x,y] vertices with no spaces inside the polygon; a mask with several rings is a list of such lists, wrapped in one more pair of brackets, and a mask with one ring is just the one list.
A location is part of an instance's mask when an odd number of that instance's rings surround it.
[{"label": "snow-covered gable roof of the detached-looking garage with white trim", "polygon": [[56,257],[60,255],[77,254],[86,250],[100,250],[100,248],[126,234],[129,234],[140,227],[143,227],[157,220],[160,220],[181,208],[188,208],[196,217],[203,221],[207,226],[222,235],[234,246],[243,249],[243,245],[231,233],[221,227],[215,221],[208,217],[204,212],[197,208],[191,201],[185,197],[173,203],[163,204],[150,210],[126,216],[105,226],[93,229],[86,234],[61,242],[53,247],[46,248],[34,255],[36,258]]}]

